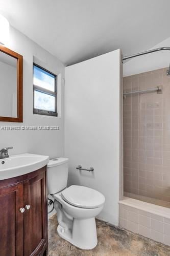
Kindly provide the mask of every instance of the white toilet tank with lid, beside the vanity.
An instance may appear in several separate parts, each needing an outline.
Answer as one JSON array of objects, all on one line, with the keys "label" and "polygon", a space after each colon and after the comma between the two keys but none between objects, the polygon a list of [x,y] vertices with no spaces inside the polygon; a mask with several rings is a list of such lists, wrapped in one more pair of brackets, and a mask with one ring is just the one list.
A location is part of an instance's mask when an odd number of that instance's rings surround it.
[{"label": "white toilet tank with lid, beside the vanity", "polygon": [[67,186],[68,158],[51,159],[47,165],[48,194],[56,194]]}]

